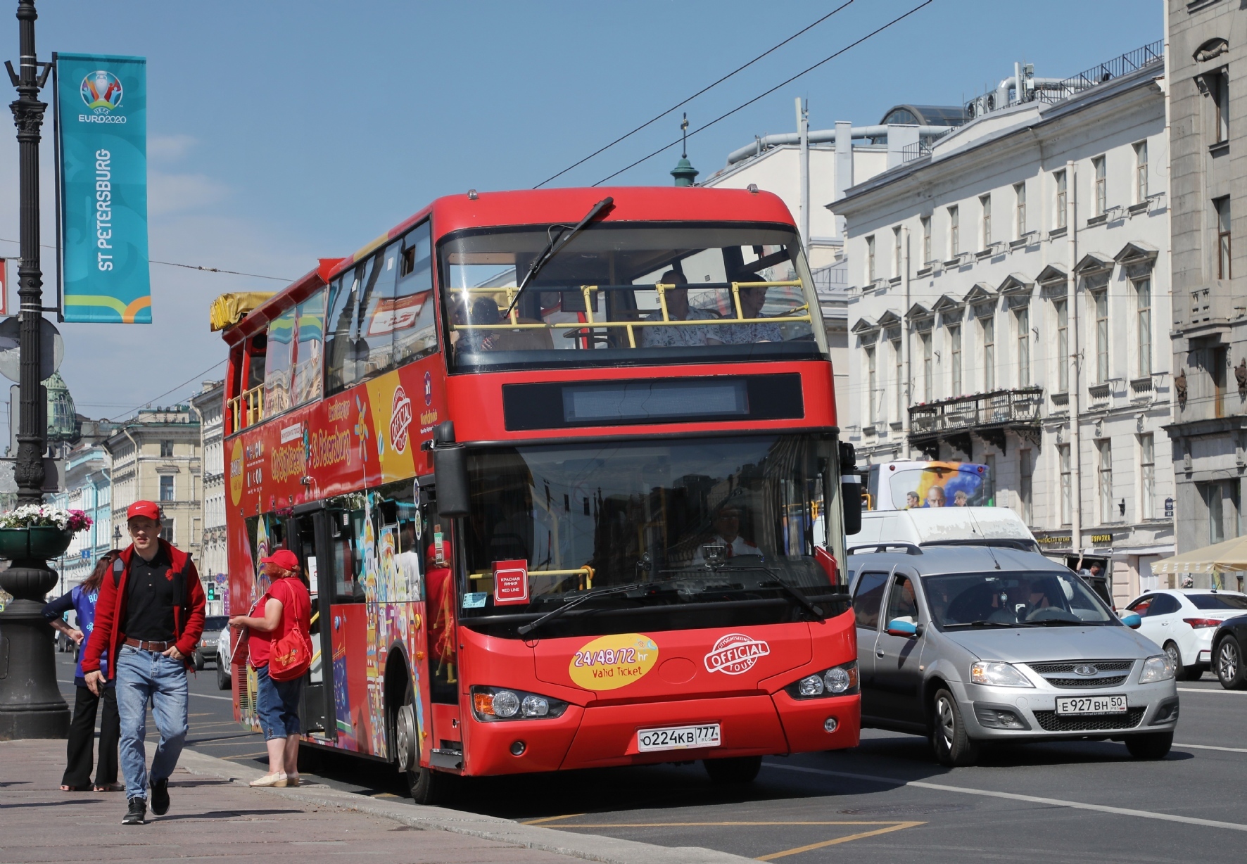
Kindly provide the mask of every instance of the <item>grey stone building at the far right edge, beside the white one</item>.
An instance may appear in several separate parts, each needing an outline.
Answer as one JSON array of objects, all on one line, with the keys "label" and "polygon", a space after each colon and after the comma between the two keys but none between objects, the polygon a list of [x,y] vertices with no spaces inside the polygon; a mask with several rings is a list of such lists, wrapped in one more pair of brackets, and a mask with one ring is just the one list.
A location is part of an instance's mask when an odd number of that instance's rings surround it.
[{"label": "grey stone building at the far right edge, beside the white one", "polygon": [[1186,552],[1247,527],[1247,244],[1232,241],[1247,224],[1247,10],[1230,0],[1167,5],[1177,373],[1168,433]]}]

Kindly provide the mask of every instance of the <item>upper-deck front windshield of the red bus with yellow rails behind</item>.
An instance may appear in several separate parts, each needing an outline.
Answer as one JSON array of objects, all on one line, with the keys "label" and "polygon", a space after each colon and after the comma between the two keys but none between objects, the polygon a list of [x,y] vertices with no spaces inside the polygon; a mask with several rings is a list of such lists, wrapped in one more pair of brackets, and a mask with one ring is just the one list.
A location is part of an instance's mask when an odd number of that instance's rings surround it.
[{"label": "upper-deck front windshield of the red bus with yellow rails behind", "polygon": [[561,228],[466,231],[441,242],[453,370],[802,359],[827,352],[813,281],[792,228],[592,224],[518,295],[532,259]]}]

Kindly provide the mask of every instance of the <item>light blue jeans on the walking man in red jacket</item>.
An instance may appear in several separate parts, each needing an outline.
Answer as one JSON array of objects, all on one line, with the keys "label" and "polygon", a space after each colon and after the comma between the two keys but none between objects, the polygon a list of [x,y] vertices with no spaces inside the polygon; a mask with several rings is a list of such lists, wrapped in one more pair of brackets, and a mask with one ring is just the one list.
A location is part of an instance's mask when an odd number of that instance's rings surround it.
[{"label": "light blue jeans on the walking man in red jacket", "polygon": [[165,780],[177,767],[187,728],[187,682],[182,661],[155,651],[122,646],[117,657],[117,713],[121,714],[121,772],[126,798],[147,798],[147,701],[160,729],[152,759],[152,782]]}]

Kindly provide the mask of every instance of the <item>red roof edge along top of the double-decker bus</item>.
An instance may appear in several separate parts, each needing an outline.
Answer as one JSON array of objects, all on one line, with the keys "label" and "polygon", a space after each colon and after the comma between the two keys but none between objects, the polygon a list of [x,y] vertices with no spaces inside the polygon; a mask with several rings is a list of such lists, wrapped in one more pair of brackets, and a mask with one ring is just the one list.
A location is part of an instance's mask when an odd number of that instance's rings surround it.
[{"label": "red roof edge along top of the double-decker bus", "polygon": [[470,197],[448,194],[408,217],[380,237],[370,241],[347,258],[322,258],[319,266],[296,279],[262,305],[248,313],[222,337],[236,344],[258,333],[277,315],[332,282],[392,239],[433,214],[434,243],[454,231],[494,226],[575,224],[590,207],[605,197],[615,199],[602,222],[777,222],[796,227],[792,213],[772,192],[673,186],[616,186],[589,188],[524,190],[514,192],[480,192]]}]

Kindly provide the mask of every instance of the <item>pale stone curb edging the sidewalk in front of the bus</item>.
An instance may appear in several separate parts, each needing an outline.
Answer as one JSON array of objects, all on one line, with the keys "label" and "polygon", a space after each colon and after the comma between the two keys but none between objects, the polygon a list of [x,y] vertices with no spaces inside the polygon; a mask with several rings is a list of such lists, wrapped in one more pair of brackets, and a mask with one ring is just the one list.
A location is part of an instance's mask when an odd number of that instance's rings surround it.
[{"label": "pale stone curb edging the sidewalk in front of the bus", "polygon": [[[155,744],[148,743],[148,756]],[[232,783],[246,784],[263,772],[247,768],[214,756],[207,756],[193,749],[183,749],[178,766],[192,774],[219,777]],[[353,792],[342,792],[327,787],[299,787],[298,789],[263,789],[277,793],[292,800],[322,807],[337,807],[357,810],[384,819],[399,822],[420,830],[443,830],[478,837],[484,840],[508,843],[527,849],[570,855],[602,864],[741,864],[753,859],[742,858],[726,852],[705,849],[702,847],[660,847],[636,840],[621,840],[597,834],[579,834],[554,828],[525,825],[511,819],[450,810],[441,807],[423,807],[420,804],[390,804]]]}]

